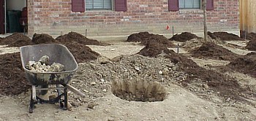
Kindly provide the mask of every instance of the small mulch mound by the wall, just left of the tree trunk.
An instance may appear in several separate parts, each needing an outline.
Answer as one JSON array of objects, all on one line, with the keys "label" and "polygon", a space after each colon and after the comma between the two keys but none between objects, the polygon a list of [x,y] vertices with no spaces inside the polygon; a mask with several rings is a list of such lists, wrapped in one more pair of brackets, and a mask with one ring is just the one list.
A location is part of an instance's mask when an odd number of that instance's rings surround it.
[{"label": "small mulch mound by the wall, just left of the tree trunk", "polygon": [[201,39],[201,38],[196,36],[195,34],[191,34],[189,32],[183,32],[181,34],[175,34],[169,40],[177,41],[177,42],[187,42],[191,39]]}]

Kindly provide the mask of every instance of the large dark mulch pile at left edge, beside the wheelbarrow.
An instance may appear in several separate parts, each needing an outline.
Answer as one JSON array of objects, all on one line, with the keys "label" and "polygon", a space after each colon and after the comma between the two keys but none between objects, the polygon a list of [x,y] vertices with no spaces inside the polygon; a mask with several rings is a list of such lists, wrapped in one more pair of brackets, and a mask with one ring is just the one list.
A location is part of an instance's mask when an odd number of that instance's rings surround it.
[{"label": "large dark mulch pile at left edge, beside the wheelbarrow", "polygon": [[29,83],[23,71],[20,52],[0,55],[0,94],[18,95],[27,92]]}]

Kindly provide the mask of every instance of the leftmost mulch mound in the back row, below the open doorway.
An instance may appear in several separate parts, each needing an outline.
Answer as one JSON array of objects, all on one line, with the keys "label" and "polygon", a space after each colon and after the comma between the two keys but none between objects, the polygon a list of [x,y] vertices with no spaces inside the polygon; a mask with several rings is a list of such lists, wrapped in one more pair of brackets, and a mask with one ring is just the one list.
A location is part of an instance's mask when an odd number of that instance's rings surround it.
[{"label": "leftmost mulch mound in the back row, below the open doorway", "polygon": [[21,47],[31,45],[31,39],[24,34],[14,33],[10,36],[2,38],[0,44],[8,44],[7,47]]}]

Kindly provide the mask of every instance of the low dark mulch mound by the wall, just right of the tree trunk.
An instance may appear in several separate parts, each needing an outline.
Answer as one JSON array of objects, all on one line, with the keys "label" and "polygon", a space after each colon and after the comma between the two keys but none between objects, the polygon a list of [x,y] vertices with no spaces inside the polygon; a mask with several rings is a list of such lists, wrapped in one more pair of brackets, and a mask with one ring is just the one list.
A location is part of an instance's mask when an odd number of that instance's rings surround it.
[{"label": "low dark mulch mound by the wall, just right of the tree trunk", "polygon": [[244,39],[241,39],[239,36],[236,34],[229,34],[227,32],[214,32],[211,33],[210,31],[207,32],[208,36],[211,36],[211,39],[221,39],[225,41],[230,41],[230,40],[239,40],[239,41],[244,41]]}]

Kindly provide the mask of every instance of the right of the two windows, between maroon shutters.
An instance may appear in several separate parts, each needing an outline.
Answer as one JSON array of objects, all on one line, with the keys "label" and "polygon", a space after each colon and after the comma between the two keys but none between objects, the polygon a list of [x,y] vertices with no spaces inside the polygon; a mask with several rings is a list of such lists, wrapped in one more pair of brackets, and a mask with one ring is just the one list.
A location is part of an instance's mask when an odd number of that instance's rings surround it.
[{"label": "right of the two windows, between maroon shutters", "polygon": [[179,9],[200,9],[200,0],[179,0]]}]

